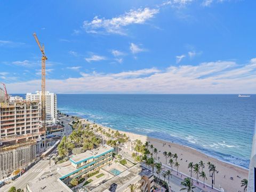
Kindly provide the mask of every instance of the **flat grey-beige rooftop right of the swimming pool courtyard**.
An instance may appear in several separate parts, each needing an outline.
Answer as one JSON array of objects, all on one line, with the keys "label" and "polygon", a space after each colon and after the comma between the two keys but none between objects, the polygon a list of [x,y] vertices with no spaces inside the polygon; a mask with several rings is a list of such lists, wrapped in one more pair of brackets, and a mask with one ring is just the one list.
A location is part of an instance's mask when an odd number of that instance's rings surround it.
[{"label": "flat grey-beige rooftop right of the swimming pool courtyard", "polygon": [[123,191],[131,183],[141,179],[143,175],[150,177],[153,172],[147,169],[141,164],[134,165],[122,172],[116,177],[110,179],[109,181],[103,183],[99,187],[92,190],[92,192],[102,192],[102,191]]}]

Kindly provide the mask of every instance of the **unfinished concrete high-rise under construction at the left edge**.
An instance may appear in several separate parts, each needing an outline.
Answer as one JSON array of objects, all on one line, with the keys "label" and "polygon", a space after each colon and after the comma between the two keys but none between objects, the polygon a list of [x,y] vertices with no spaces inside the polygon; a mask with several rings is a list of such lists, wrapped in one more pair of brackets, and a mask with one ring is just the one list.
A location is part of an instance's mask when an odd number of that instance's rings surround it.
[{"label": "unfinished concrete high-rise under construction at the left edge", "polygon": [[31,163],[45,147],[39,101],[10,101],[6,89],[1,93],[5,98],[0,101],[0,179]]}]

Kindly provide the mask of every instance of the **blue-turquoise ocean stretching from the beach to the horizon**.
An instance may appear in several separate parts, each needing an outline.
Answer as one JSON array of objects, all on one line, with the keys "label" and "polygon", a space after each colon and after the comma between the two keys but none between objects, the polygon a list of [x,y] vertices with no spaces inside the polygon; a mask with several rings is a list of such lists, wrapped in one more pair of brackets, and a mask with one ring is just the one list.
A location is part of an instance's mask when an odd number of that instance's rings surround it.
[{"label": "blue-turquoise ocean stretching from the beach to the horizon", "polygon": [[58,94],[58,109],[249,167],[256,95]]}]

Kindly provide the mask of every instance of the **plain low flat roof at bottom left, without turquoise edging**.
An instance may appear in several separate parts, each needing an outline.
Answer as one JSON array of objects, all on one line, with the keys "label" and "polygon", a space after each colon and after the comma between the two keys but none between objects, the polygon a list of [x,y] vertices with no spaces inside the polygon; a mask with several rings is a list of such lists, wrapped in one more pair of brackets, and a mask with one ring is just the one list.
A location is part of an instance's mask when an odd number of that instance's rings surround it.
[{"label": "plain low flat roof at bottom left, without turquoise edging", "polygon": [[27,186],[31,191],[41,192],[71,192],[68,186],[65,185],[60,179],[58,172],[52,172],[43,175],[41,178],[31,180],[27,183]]}]

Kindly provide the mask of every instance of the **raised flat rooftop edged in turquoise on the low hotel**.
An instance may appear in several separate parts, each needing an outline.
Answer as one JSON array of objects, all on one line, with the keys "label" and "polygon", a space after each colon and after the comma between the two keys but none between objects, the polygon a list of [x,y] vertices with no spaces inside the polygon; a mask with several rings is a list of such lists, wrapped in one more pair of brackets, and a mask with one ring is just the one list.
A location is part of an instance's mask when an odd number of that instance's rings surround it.
[{"label": "raised flat rooftop edged in turquoise on the low hotel", "polygon": [[84,153],[78,154],[78,155],[73,155],[69,161],[71,161],[72,163],[78,164],[81,162],[84,162],[88,159],[91,158],[97,158],[98,156],[104,155],[106,153],[108,153],[109,151],[114,150],[113,147],[110,147],[108,145],[105,145],[103,147],[99,147],[97,149],[93,149],[93,150],[87,150]]}]

